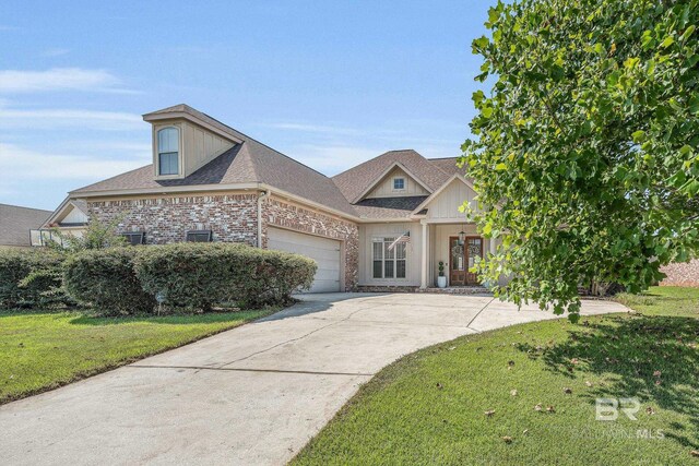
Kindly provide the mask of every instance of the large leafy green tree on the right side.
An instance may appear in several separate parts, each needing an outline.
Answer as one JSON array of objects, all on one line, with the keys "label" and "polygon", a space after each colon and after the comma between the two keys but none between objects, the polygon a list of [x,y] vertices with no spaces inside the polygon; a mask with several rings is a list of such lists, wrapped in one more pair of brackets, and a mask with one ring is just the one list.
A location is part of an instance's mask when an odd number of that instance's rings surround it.
[{"label": "large leafy green tree on the right side", "polygon": [[[498,2],[463,145],[496,292],[577,318],[578,288],[662,278],[699,241],[699,0]],[[490,76],[488,79],[488,76]]]}]

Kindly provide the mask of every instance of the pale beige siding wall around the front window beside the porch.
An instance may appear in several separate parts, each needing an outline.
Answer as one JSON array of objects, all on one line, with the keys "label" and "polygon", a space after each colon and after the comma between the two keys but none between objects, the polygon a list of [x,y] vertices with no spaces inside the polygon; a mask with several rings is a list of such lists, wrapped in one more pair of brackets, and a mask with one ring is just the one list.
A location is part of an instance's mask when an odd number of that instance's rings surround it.
[{"label": "pale beige siding wall around the front window beside the porch", "polygon": [[[405,248],[405,278],[374,278],[374,238],[399,237],[410,231],[411,241]],[[418,222],[359,225],[359,285],[419,286],[422,266],[422,225]]]}]

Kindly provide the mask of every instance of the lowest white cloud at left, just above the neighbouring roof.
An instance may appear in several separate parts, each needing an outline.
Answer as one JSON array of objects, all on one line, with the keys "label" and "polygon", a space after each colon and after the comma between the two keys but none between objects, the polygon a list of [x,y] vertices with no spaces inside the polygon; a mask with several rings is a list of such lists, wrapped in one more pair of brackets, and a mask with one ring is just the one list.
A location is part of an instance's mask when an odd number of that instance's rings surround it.
[{"label": "lowest white cloud at left, just above the neighbouring roof", "polygon": [[141,167],[145,163],[142,158],[106,159],[42,153],[0,143],[0,186],[23,186],[24,189],[31,189],[32,182],[43,180],[97,181]]}]

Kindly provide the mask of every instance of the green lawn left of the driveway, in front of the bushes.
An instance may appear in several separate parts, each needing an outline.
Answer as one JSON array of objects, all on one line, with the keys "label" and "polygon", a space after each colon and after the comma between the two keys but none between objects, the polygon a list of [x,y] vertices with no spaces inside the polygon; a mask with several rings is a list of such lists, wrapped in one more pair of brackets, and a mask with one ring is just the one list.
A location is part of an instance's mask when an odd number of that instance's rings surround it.
[{"label": "green lawn left of the driveway, in front of the bushes", "polygon": [[0,311],[0,404],[64,385],[271,313],[98,318]]}]

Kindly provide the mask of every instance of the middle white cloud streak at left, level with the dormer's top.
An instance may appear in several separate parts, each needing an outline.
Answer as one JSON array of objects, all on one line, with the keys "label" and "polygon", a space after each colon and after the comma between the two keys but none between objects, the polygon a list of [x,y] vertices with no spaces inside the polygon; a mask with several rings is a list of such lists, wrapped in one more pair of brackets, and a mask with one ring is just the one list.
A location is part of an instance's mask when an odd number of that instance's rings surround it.
[{"label": "middle white cloud streak at left, level with the dormer's top", "polygon": [[0,105],[0,129],[67,127],[99,130],[134,130],[144,128],[141,116],[135,113],[62,108],[24,110],[7,108]]}]

